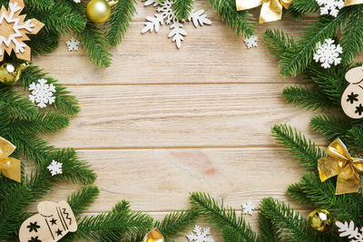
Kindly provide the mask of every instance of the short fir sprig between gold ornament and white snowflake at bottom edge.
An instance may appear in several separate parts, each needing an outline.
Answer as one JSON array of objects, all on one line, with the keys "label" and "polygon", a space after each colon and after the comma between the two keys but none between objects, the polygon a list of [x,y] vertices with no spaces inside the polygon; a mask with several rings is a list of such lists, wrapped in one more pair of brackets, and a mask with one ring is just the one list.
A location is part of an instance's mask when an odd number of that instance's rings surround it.
[{"label": "short fir sprig between gold ornament and white snowflake at bottom edge", "polygon": [[193,210],[173,212],[165,216],[162,222],[157,221],[158,227],[167,241],[182,237],[195,224],[198,214]]}]

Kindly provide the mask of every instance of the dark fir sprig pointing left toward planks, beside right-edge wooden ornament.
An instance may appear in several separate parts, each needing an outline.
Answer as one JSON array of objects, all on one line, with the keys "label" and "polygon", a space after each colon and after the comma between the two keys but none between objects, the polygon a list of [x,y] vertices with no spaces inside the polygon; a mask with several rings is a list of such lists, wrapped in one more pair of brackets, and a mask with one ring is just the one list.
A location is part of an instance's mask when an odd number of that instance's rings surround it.
[{"label": "dark fir sprig pointing left toward planks, beside right-edge wooden ornament", "polygon": [[333,107],[332,102],[327,100],[319,89],[308,88],[305,86],[291,86],[285,88],[282,92],[287,102],[292,103],[295,107],[301,106],[308,110],[325,110]]}]

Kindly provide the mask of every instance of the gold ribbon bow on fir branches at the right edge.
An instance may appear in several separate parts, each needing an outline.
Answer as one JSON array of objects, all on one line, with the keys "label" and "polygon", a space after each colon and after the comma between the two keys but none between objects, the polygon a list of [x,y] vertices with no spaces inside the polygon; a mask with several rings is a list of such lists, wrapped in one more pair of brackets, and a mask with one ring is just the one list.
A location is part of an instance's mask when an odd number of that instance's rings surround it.
[{"label": "gold ribbon bow on fir branches at the right edge", "polygon": [[363,171],[363,160],[352,158],[340,139],[329,144],[327,154],[329,157],[318,160],[321,181],[338,175],[336,195],[358,192],[358,172]]}]

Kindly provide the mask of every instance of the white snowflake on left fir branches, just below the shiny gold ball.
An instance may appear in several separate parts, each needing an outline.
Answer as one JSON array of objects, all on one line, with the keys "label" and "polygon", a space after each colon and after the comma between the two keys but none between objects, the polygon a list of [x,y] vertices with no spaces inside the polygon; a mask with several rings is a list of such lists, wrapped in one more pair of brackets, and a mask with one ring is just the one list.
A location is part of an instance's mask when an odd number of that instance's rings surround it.
[{"label": "white snowflake on left fir branches, just below the shiny gold ball", "polygon": [[47,84],[45,79],[38,80],[38,83],[31,83],[29,85],[29,99],[31,102],[38,103],[39,108],[45,108],[46,104],[52,104],[55,101],[53,96],[55,92],[54,85]]}]

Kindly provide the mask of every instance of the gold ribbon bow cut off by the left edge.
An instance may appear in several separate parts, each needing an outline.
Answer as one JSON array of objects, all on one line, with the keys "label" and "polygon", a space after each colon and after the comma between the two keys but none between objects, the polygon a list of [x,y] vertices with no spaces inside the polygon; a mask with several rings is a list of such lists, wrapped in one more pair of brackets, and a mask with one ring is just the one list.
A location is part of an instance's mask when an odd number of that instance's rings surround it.
[{"label": "gold ribbon bow cut off by the left edge", "polygon": [[8,179],[20,182],[21,162],[8,157],[14,150],[15,146],[11,142],[0,137],[0,173]]}]

